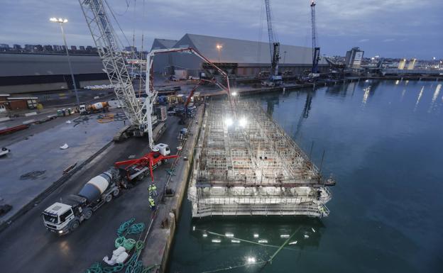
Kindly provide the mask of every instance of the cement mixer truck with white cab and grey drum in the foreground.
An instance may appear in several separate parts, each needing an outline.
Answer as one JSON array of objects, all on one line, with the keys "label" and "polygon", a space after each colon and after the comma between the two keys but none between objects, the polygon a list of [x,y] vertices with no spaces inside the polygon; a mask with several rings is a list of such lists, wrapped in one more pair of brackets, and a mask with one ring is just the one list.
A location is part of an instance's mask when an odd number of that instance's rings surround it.
[{"label": "cement mixer truck with white cab and grey drum in the foreground", "polygon": [[43,211],[45,227],[59,235],[72,232],[94,211],[119,196],[120,184],[121,175],[115,168],[93,177],[78,194],[71,194]]}]

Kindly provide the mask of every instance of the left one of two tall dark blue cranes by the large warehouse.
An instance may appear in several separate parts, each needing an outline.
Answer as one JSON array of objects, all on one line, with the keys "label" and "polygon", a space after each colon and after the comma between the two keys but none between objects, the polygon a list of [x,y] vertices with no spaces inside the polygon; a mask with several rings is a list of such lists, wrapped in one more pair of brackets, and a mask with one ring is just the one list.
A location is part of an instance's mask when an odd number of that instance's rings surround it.
[{"label": "left one of two tall dark blue cranes by the large warehouse", "polygon": [[266,6],[266,21],[268,21],[270,75],[268,81],[262,82],[262,85],[275,87],[276,85],[280,85],[282,81],[282,77],[278,75],[278,61],[280,60],[280,43],[278,43],[278,40],[275,38],[275,35],[273,33],[269,0],[265,0],[265,6]]}]

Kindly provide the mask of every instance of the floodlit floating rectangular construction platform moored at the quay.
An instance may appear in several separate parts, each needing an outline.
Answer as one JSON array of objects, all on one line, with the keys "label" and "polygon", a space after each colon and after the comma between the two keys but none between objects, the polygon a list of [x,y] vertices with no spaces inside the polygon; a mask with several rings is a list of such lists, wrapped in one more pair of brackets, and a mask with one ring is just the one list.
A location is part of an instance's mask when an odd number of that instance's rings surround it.
[{"label": "floodlit floating rectangular construction platform moored at the quay", "polygon": [[192,216],[329,215],[319,169],[255,101],[211,101],[188,190]]}]

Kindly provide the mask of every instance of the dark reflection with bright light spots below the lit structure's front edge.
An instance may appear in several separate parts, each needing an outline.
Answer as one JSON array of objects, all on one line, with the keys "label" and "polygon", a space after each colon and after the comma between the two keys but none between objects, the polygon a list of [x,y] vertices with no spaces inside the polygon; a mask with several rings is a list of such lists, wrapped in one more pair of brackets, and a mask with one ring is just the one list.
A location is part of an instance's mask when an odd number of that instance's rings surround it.
[{"label": "dark reflection with bright light spots below the lit structure's front edge", "polygon": [[[259,224],[257,219],[260,219]],[[257,217],[193,219],[190,223],[190,235],[199,241],[203,250],[214,250],[222,247],[238,247],[239,245],[258,247],[259,250],[275,249],[290,238],[293,251],[299,248],[319,247],[324,225],[318,218],[280,218],[268,216],[265,221]],[[297,242],[297,243],[295,243]]]}]

